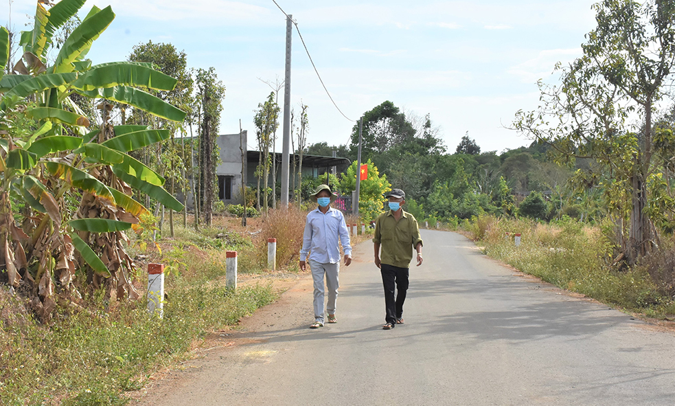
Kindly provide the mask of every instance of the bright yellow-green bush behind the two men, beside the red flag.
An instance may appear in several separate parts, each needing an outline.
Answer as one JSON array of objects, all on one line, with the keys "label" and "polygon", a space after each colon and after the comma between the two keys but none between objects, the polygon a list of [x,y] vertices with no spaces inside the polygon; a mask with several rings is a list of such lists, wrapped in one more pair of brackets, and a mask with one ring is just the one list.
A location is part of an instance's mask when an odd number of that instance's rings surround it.
[{"label": "bright yellow-green bush behind the two men, beside the red flag", "polygon": [[[363,222],[374,220],[381,212],[385,201],[384,195],[391,190],[391,184],[387,181],[387,175],[382,174],[375,164],[368,159],[368,178],[361,181],[359,185],[358,216]],[[340,189],[343,192],[352,192],[356,190],[356,175],[358,168],[356,162],[347,168],[347,171],[340,178]]]}]

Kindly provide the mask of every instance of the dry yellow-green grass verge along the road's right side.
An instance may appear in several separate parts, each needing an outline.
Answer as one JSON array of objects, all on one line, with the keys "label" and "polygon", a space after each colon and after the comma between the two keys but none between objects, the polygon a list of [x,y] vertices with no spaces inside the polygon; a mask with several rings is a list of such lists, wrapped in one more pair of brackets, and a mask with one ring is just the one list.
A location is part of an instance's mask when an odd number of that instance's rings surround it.
[{"label": "dry yellow-green grass verge along the road's right side", "polygon": [[[575,221],[545,225],[534,221],[482,218],[468,227],[482,236],[489,256],[562,289],[648,317],[675,315],[673,298],[644,267],[617,271],[610,266],[612,243],[597,227]],[[516,247],[507,232],[520,232]]]}]

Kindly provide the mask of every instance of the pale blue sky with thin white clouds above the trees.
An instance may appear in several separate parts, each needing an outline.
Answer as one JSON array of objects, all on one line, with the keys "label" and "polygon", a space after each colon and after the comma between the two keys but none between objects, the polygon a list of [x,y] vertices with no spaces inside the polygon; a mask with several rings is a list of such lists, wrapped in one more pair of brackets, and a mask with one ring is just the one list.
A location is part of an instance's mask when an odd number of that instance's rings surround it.
[{"label": "pale blue sky with thin white clouds above the trees", "polygon": [[[0,3],[1,25],[9,23],[10,1]],[[294,28],[291,106],[308,105],[309,144],[346,144],[353,120],[389,100],[417,117],[429,114],[450,153],[467,134],[483,151],[529,145],[507,127],[516,111],[536,109],[537,80],[556,83],[556,63],[581,56],[584,34],[595,27],[594,1],[582,0],[277,3],[292,14],[342,111]],[[215,67],[226,87],[220,133],[239,133],[241,120],[255,149],[253,115],[271,91],[263,81],[285,74],[286,16],[273,0],[88,0],[81,16],[92,5],[116,14],[89,52],[94,64],[126,60],[150,40],[172,43],[190,67]],[[34,1],[13,0],[12,27],[25,30],[34,12]]]}]

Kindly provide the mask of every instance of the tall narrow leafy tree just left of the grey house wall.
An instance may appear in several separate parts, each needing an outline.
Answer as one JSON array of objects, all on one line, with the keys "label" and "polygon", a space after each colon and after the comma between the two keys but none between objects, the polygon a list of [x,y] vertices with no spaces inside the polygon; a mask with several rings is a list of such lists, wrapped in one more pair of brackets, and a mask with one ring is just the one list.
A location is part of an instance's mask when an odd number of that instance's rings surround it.
[{"label": "tall narrow leafy tree just left of the grey house wall", "polygon": [[220,127],[220,112],[222,112],[222,99],[225,98],[225,85],[218,80],[214,67],[209,67],[208,70],[198,69],[196,84],[197,98],[201,103],[202,111],[199,144],[201,146],[203,210],[204,220],[210,227],[213,224],[213,204],[216,185],[218,184],[216,166],[220,159],[216,137],[218,137],[218,128]]}]

